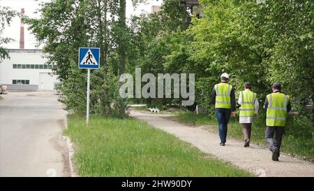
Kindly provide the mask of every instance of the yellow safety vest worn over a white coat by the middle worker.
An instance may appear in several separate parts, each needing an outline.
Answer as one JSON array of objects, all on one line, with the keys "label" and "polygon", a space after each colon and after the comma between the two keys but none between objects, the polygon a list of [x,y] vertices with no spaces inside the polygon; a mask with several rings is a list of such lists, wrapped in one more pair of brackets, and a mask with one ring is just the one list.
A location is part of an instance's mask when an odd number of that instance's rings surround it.
[{"label": "yellow safety vest worn over a white coat by the middle worker", "polygon": [[242,99],[240,107],[240,117],[253,117],[255,109],[256,94],[251,90],[244,90],[240,92]]}]

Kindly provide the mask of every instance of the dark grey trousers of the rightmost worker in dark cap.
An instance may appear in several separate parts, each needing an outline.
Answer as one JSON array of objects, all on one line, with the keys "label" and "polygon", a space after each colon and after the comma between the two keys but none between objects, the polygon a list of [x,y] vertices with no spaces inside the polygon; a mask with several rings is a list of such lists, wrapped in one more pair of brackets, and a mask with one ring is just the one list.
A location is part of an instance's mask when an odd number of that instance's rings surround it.
[{"label": "dark grey trousers of the rightmost worker in dark cap", "polygon": [[[281,148],[281,139],[285,132],[285,127],[267,127],[265,131],[265,138],[268,143],[269,150],[273,151],[274,148]],[[275,136],[275,137],[274,137]]]}]

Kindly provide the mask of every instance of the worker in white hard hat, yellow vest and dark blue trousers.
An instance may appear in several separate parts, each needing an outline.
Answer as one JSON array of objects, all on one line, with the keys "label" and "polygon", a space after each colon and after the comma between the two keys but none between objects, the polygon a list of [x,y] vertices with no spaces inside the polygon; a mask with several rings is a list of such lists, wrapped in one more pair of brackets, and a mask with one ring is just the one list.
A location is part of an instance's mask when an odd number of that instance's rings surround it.
[{"label": "worker in white hard hat, yellow vest and dark blue trousers", "polygon": [[211,104],[215,107],[220,146],[225,146],[229,118],[230,115],[234,117],[235,96],[232,85],[228,84],[229,74],[223,73],[220,81],[221,83],[216,84],[211,92]]}]

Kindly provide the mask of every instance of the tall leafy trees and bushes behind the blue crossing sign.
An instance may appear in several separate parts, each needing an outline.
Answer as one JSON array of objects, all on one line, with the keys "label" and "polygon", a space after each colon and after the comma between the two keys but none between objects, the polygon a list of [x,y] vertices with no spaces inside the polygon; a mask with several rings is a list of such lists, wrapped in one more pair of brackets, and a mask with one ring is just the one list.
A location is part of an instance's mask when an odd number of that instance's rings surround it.
[{"label": "tall leafy trees and bushes behind the blue crossing sign", "polygon": [[126,35],[119,32],[121,22],[116,17],[125,8],[113,0],[57,0],[42,3],[38,11],[39,19],[26,18],[25,22],[38,41],[45,43],[43,51],[48,53],[48,64],[55,65],[63,92],[61,101],[68,110],[86,111],[87,71],[77,68],[78,49],[99,47],[100,69],[91,71],[91,113],[124,115],[125,101],[117,95],[117,52],[119,44],[126,42],[121,37]]}]

